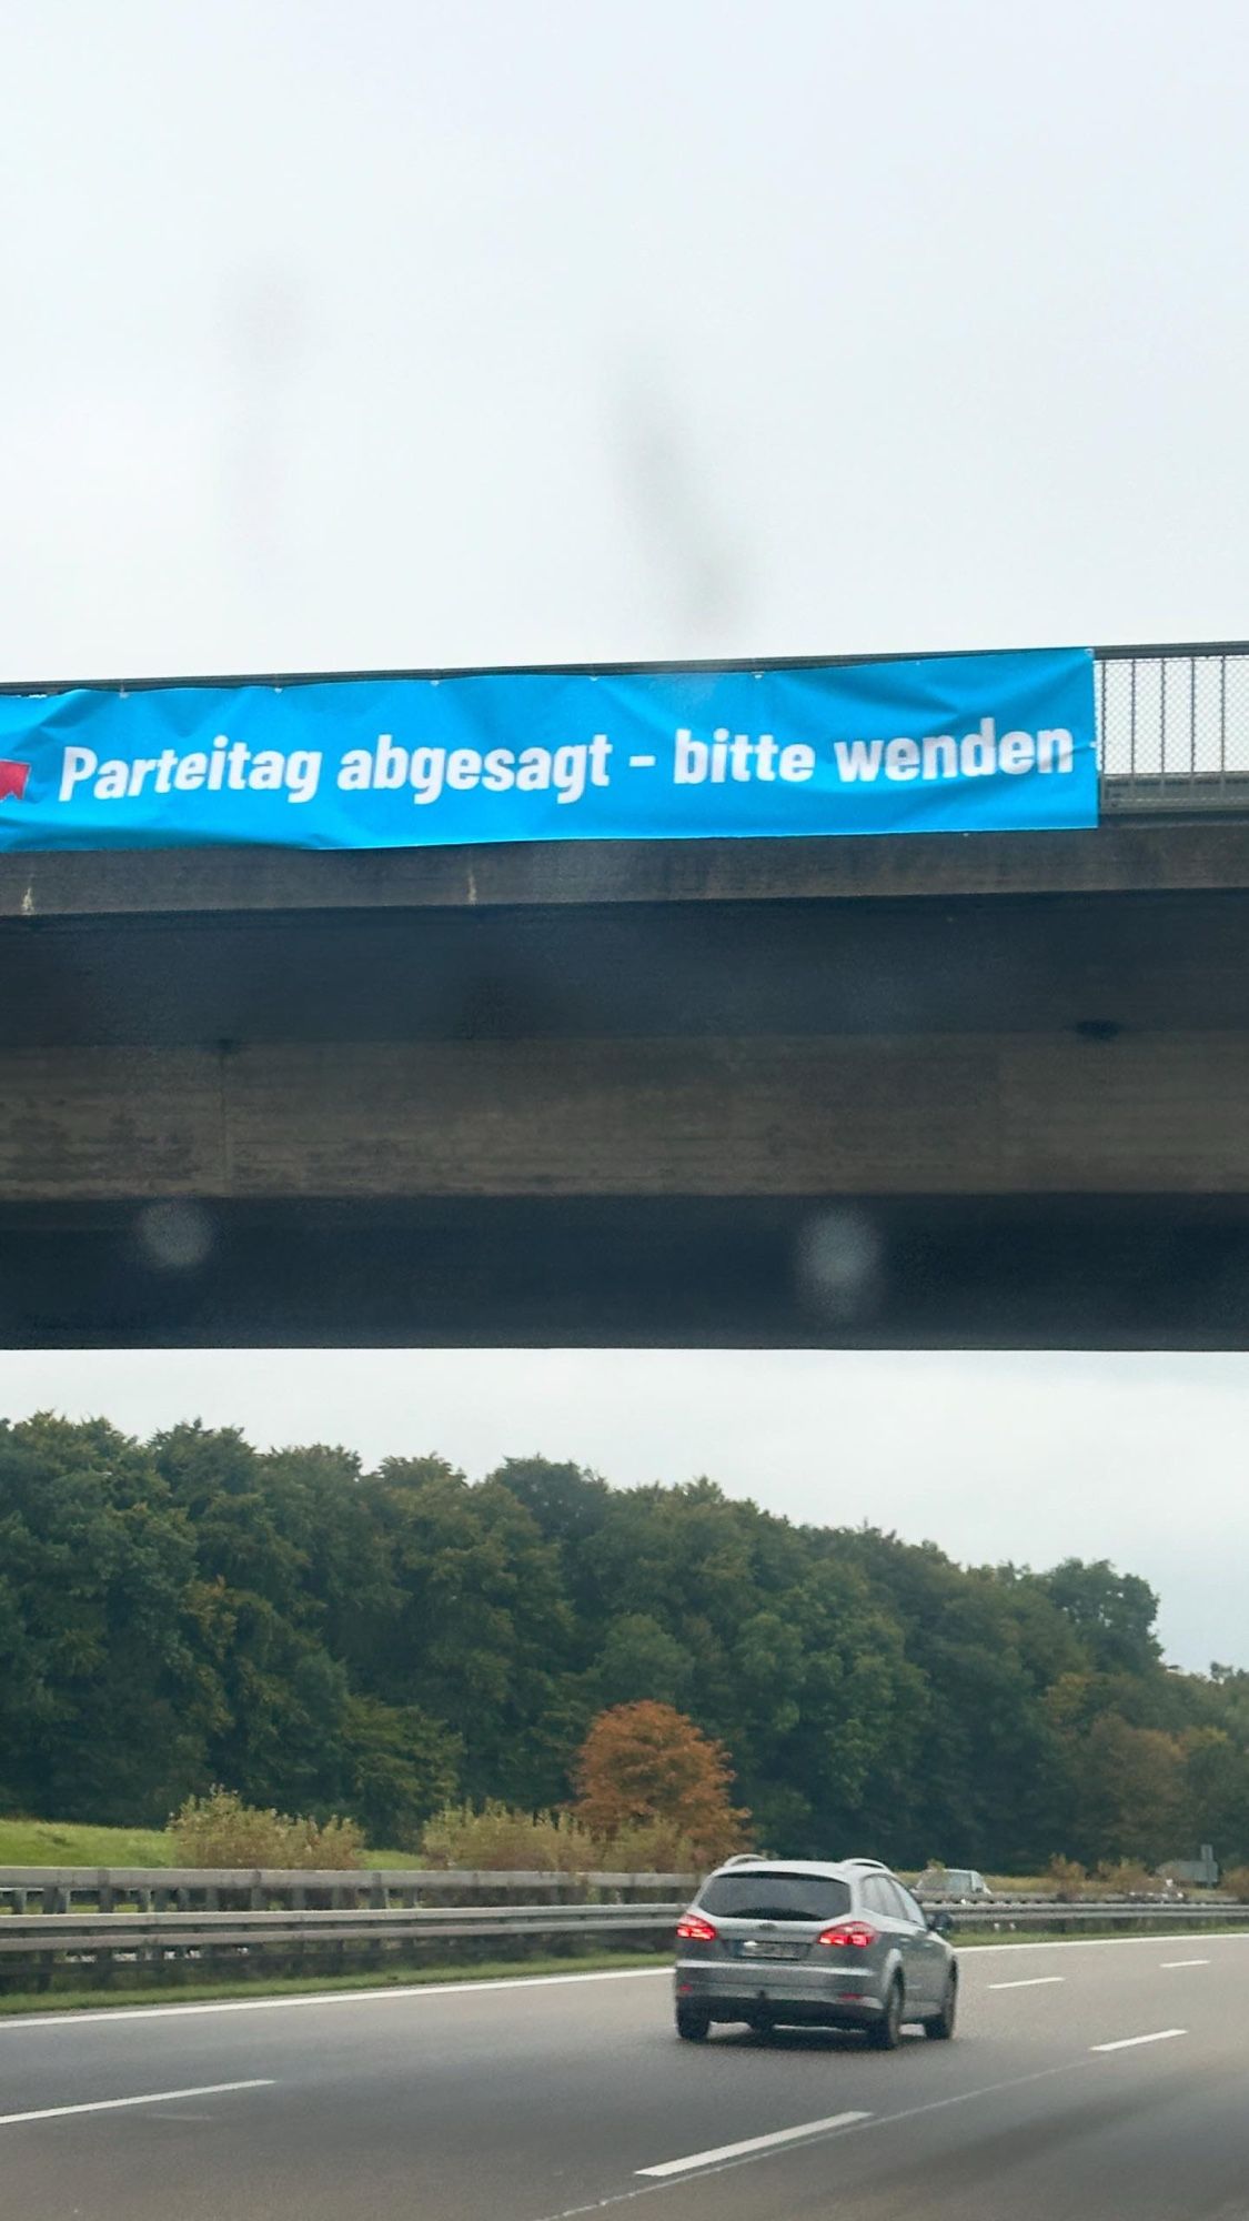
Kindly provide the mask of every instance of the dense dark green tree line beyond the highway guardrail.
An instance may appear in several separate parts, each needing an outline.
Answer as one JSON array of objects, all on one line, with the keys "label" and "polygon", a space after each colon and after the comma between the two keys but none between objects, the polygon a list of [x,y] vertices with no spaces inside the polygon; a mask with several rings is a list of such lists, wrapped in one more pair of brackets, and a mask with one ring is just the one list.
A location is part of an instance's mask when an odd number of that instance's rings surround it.
[{"label": "dense dark green tree line beyond the highway guardrail", "polygon": [[558,1808],[607,1708],[725,1746],[753,1841],[1033,1872],[1249,1855],[1249,1672],[1147,1581],[800,1526],[709,1479],[0,1426],[0,1810],[162,1823],[220,1783],[411,1848]]}]

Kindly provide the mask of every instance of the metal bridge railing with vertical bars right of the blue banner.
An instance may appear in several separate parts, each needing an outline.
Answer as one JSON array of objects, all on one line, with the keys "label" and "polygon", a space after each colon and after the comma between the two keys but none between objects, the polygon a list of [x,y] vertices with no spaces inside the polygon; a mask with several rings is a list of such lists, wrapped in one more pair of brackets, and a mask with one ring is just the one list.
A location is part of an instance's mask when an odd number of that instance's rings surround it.
[{"label": "metal bridge railing with vertical bars right of the blue banner", "polygon": [[1102,808],[1249,808],[1249,642],[1098,649]]}]

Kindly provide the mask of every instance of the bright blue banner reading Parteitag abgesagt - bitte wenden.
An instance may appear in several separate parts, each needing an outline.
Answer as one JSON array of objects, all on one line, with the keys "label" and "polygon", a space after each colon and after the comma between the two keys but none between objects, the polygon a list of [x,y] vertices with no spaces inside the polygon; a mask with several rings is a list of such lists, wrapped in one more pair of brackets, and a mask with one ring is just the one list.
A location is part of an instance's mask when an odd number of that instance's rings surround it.
[{"label": "bright blue banner reading Parteitag abgesagt - bitte wenden", "polygon": [[0,693],[0,848],[1096,822],[1087,649]]}]

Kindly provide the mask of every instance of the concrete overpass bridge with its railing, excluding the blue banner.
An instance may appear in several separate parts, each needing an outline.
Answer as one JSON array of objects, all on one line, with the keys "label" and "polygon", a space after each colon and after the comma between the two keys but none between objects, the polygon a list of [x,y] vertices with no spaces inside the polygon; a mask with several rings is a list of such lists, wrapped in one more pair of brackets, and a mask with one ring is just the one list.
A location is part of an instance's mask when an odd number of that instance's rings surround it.
[{"label": "concrete overpass bridge with its railing, excluding the blue banner", "polygon": [[1249,649],[1102,826],[0,857],[0,1339],[1245,1346]]}]

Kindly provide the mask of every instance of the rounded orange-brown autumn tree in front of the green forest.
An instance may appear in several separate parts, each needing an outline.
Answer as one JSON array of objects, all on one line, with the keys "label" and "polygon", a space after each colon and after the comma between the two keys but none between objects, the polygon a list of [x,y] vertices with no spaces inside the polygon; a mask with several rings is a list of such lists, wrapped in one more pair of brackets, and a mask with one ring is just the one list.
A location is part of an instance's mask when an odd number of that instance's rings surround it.
[{"label": "rounded orange-brown autumn tree in front of the green forest", "polygon": [[749,1812],[729,1803],[733,1770],[725,1746],[671,1704],[613,1704],[600,1712],[573,1779],[576,1815],[596,1837],[636,1821],[669,1821],[711,1866],[745,1839]]}]

